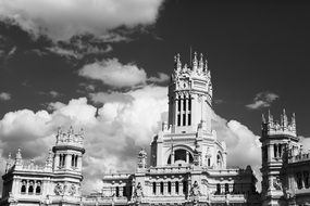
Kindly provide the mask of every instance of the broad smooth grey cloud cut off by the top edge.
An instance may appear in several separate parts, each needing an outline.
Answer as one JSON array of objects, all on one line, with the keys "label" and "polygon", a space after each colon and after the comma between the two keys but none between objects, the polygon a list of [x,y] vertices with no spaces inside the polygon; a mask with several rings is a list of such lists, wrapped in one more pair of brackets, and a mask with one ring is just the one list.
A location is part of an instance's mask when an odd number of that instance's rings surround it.
[{"label": "broad smooth grey cloud cut off by the top edge", "polygon": [[0,0],[0,13],[53,39],[152,24],[163,0]]}]

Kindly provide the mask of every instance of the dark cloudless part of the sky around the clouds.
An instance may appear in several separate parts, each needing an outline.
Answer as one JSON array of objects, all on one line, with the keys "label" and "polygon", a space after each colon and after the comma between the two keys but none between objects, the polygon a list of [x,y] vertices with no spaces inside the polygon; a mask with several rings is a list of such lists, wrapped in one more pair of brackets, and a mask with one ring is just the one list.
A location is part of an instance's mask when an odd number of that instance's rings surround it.
[{"label": "dark cloudless part of the sky around the clouds", "polygon": [[60,101],[80,96],[78,83],[83,79],[76,75],[77,69],[95,59],[117,56],[123,63],[137,63],[150,75],[170,74],[173,55],[181,53],[182,61],[188,62],[191,47],[208,55],[214,99],[221,100],[214,105],[218,114],[237,119],[259,134],[260,115],[266,110],[253,111],[245,105],[257,93],[269,91],[278,95],[271,106],[275,116],[283,107],[288,114],[296,112],[298,132],[309,136],[309,20],[305,1],[171,0],[161,7],[154,25],[129,34],[131,41],[112,43],[109,54],[82,60],[48,53],[48,37],[34,40],[16,24],[2,22],[1,48],[15,48],[15,52],[10,57],[1,56],[0,91],[12,93],[12,100],[0,102],[0,115],[20,108],[45,108],[51,100],[39,92],[55,90],[64,94]]}]

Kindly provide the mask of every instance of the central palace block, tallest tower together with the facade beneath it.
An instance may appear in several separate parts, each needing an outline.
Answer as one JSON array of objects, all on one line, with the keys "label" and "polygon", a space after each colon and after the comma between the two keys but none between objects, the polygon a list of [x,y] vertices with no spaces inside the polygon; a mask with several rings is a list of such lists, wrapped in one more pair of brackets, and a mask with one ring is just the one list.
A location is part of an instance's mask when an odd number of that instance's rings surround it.
[{"label": "central palace block, tallest tower together with the facade beneath it", "polygon": [[[226,145],[211,129],[212,82],[202,54],[188,65],[175,57],[169,119],[151,142],[150,167],[141,150],[135,173],[103,177],[102,199],[138,205],[260,205],[257,179],[226,168]],[[100,202],[99,202],[100,203]]]}]

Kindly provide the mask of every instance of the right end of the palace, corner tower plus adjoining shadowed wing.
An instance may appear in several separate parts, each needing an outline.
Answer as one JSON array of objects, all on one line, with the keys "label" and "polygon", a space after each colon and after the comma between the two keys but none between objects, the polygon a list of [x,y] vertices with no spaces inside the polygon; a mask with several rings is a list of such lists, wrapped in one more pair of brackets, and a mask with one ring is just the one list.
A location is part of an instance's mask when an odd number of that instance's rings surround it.
[{"label": "right end of the palace, corner tower plus adjoining shadowed wing", "polygon": [[310,205],[310,153],[302,150],[293,114],[262,118],[262,205]]}]

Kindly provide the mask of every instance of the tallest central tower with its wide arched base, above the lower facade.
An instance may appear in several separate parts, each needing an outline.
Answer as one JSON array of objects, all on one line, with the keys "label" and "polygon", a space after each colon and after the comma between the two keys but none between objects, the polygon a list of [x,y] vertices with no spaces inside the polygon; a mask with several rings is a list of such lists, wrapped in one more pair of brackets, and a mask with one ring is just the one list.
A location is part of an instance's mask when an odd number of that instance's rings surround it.
[{"label": "tallest central tower with its wide arched base, above the lower facade", "polygon": [[211,129],[212,83],[208,61],[194,53],[189,65],[174,57],[169,118],[151,144],[151,165],[225,168],[226,146]]}]

